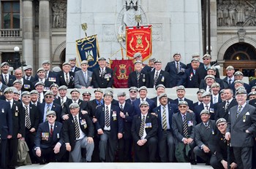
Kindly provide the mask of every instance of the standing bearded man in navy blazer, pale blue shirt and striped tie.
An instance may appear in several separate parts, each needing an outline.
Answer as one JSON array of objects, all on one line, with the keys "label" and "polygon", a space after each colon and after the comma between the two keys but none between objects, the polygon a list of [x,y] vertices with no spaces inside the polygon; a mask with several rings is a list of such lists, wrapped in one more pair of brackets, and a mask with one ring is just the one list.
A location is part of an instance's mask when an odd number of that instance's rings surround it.
[{"label": "standing bearded man in navy blazer, pale blue shirt and striped tie", "polygon": [[178,111],[176,104],[168,103],[167,95],[159,95],[160,106],[153,111],[157,114],[158,127],[158,147],[161,162],[174,162],[175,160],[175,140],[172,130],[173,114]]}]

